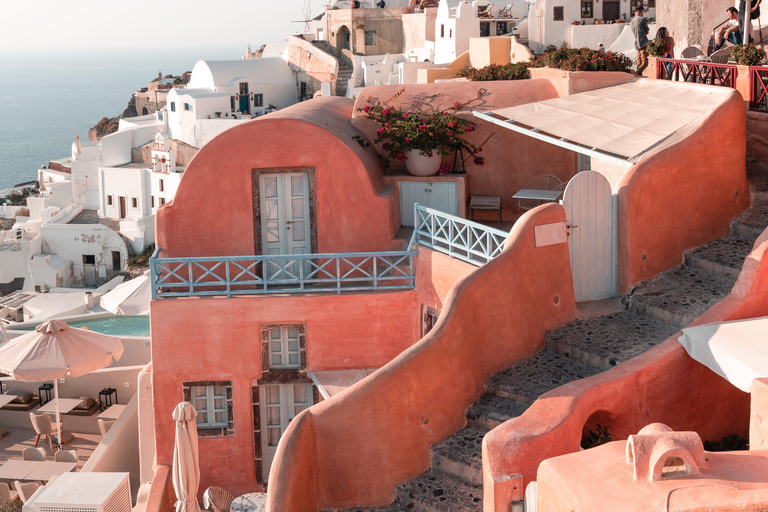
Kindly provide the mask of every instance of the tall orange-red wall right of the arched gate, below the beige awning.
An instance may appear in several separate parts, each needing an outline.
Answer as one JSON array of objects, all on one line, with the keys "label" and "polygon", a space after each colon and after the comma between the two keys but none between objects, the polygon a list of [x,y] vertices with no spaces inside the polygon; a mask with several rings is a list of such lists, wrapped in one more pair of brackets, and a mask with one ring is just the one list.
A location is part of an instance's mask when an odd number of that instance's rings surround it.
[{"label": "tall orange-red wall right of the arched gate, below the beige awning", "polygon": [[744,102],[737,92],[696,130],[635,165],[618,185],[618,287],[680,265],[728,234],[749,207]]}]

